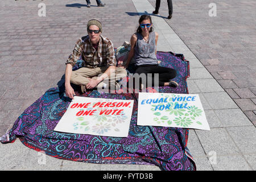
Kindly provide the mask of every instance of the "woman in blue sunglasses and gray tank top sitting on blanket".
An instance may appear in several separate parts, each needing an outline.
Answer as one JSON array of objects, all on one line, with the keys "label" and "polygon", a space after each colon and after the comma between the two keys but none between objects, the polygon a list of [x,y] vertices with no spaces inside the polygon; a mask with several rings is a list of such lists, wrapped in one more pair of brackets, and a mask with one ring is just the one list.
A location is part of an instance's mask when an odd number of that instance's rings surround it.
[{"label": "woman in blue sunglasses and gray tank top sitting on blanket", "polygon": [[[179,85],[177,82],[170,81],[176,77],[176,71],[158,65],[158,60],[156,59],[157,42],[158,33],[153,31],[151,16],[142,15],[139,18],[137,32],[131,36],[131,50],[124,67],[127,68],[131,59],[134,58],[135,73],[139,75],[146,74],[147,80],[148,78],[152,79],[152,86],[154,86],[154,73],[158,73],[159,85],[155,86],[177,87]],[[119,62],[118,65],[122,65],[122,63]],[[147,73],[152,73],[152,77],[148,76]]]}]

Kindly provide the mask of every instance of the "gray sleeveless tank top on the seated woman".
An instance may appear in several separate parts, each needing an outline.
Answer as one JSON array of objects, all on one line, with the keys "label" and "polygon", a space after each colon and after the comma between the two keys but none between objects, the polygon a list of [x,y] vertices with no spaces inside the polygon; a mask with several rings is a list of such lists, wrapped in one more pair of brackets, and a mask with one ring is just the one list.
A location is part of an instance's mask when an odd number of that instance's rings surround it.
[{"label": "gray sleeveless tank top on the seated woman", "polygon": [[155,32],[150,32],[148,36],[148,43],[143,39],[143,36],[139,33],[137,35],[137,42],[134,48],[134,63],[135,65],[143,64],[158,64],[158,60],[155,55]]}]

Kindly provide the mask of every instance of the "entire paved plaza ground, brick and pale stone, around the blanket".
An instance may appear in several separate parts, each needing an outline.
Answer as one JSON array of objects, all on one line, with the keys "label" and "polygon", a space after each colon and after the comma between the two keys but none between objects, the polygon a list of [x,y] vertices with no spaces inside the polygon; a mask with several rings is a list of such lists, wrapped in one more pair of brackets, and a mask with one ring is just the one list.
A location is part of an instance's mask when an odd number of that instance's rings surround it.
[{"label": "entire paved plaza ground, brick and pale stone, around the blanket", "polygon": [[[103,0],[102,0],[103,1]],[[39,16],[39,3],[46,16]],[[119,47],[151,14],[152,0],[0,2],[0,135],[47,89],[63,83],[65,61],[89,19],[101,20],[102,35]],[[216,16],[209,16],[209,4]],[[200,95],[210,131],[189,130],[188,148],[197,170],[256,169],[255,1],[166,1],[152,15],[158,51],[183,53],[190,63],[189,93]],[[14,143],[0,144],[1,169],[14,170],[160,170],[156,166],[89,164],[55,159]]]}]

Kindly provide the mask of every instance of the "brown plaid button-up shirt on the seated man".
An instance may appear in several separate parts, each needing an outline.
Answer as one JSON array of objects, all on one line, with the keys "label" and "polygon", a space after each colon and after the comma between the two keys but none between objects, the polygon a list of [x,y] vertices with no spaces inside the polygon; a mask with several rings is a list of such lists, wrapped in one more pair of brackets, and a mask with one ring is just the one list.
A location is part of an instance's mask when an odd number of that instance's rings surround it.
[{"label": "brown plaid button-up shirt on the seated man", "polygon": [[68,57],[66,64],[77,63],[77,60],[82,59],[82,66],[88,68],[97,68],[101,66],[115,66],[115,52],[113,43],[108,38],[100,35],[97,51],[90,42],[89,35],[77,40],[76,46],[72,54]]}]

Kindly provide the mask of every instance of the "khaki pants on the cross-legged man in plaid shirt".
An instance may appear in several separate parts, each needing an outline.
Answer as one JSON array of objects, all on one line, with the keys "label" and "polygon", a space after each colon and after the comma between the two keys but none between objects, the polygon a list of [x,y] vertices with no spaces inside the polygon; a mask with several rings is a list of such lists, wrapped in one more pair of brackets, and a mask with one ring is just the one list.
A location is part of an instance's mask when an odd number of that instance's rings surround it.
[{"label": "khaki pants on the cross-legged man in plaid shirt", "polygon": [[[89,83],[88,78],[97,79],[98,76],[101,76],[102,73],[104,73],[108,69],[108,67],[98,67],[98,68],[86,68],[82,67],[77,69],[76,71],[72,72],[71,80],[70,82],[75,85],[87,85]],[[111,84],[114,83],[117,80],[120,80],[121,78],[124,78],[127,76],[127,72],[124,68],[115,67],[115,72],[110,75],[110,77],[105,78],[103,81],[101,81],[97,88],[102,88],[105,84]]]}]

